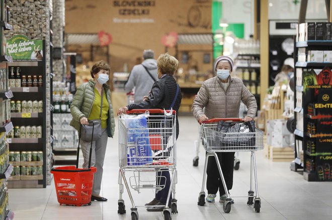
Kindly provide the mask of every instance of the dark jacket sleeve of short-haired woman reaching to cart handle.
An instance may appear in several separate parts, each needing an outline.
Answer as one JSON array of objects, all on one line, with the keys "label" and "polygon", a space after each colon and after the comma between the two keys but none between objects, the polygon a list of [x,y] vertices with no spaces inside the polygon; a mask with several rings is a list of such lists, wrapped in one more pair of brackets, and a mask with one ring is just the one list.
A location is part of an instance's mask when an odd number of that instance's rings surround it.
[{"label": "dark jacket sleeve of short-haired woman reaching to cart handle", "polygon": [[161,102],[164,96],[165,92],[163,85],[159,81],[156,81],[152,86],[149,98],[147,100],[142,101],[141,103],[130,104],[127,106],[127,108],[129,110],[155,108]]}]

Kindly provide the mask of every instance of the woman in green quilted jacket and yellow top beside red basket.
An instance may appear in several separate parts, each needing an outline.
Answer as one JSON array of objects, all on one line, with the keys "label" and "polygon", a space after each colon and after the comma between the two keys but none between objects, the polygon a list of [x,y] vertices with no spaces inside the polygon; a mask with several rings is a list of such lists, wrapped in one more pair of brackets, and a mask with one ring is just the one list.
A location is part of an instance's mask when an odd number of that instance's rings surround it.
[{"label": "woman in green quilted jacket and yellow top beside red basket", "polygon": [[[70,105],[72,121],[70,125],[80,131],[80,125],[89,124],[88,120],[100,118],[101,100],[103,106],[101,114],[102,136],[92,143],[91,166],[97,167],[94,176],[91,200],[107,201],[100,196],[103,177],[103,164],[108,137],[113,137],[115,130],[114,113],[111,103],[110,87],[106,84],[109,80],[110,66],[104,61],[97,62],[91,69],[89,82],[77,87],[74,99]],[[83,168],[88,168],[91,142],[80,140],[84,163]]]}]

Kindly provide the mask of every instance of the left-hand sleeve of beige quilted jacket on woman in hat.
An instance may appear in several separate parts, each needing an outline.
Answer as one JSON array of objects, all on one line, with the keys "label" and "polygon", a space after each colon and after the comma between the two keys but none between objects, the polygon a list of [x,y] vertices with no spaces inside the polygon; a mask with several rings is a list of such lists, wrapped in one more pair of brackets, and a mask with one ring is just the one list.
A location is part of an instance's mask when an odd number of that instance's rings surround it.
[{"label": "left-hand sleeve of beige quilted jacket on woman in hat", "polygon": [[194,117],[199,119],[201,115],[204,114],[204,107],[209,102],[209,94],[208,94],[208,88],[206,83],[203,83],[201,88],[199,89],[196,98],[194,99],[194,103],[191,107],[191,110],[194,114]]}]

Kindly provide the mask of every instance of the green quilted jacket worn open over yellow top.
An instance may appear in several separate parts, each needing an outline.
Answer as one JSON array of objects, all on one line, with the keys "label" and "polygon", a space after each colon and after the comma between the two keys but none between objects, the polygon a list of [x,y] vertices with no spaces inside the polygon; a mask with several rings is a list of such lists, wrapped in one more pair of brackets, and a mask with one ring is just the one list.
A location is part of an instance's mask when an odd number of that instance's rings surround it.
[{"label": "green quilted jacket worn open over yellow top", "polygon": [[[94,87],[96,82],[94,80],[89,80],[89,82],[82,84],[77,87],[74,99],[70,105],[70,112],[72,115],[72,120],[70,126],[74,127],[77,131],[80,130],[79,120],[82,117],[89,118],[89,114],[92,109],[92,105],[95,100]],[[114,112],[111,103],[111,92],[110,87],[106,84],[103,85],[106,91],[106,97],[109,103],[108,119],[107,119],[107,132],[109,137],[113,137],[115,130],[114,122]]]}]

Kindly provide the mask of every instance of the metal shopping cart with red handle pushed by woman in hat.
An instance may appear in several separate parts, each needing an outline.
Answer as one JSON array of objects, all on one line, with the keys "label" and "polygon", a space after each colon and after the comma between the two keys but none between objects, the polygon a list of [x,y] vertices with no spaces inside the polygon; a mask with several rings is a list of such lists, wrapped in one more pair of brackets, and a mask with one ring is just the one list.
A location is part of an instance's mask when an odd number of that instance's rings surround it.
[{"label": "metal shopping cart with red handle pushed by woman in hat", "polygon": [[[217,131],[218,121],[226,122],[240,122],[239,118],[214,118],[205,121],[201,124],[203,131],[204,148],[207,152],[205,157],[205,166],[203,173],[202,191],[199,193],[198,205],[203,206],[205,204],[205,192],[204,184],[206,179],[207,162],[210,156],[214,156],[217,162],[217,167],[221,176],[222,184],[226,192],[226,200],[223,203],[224,212],[228,213],[231,209],[231,197],[228,192],[225,179],[221,170],[220,162],[218,160],[216,152],[238,152],[238,151],[251,151],[251,169],[250,169],[250,190],[248,195],[244,196],[232,196],[232,197],[248,197],[247,204],[253,205],[256,212],[261,210],[261,198],[258,194],[257,183],[257,170],[256,170],[256,157],[255,151],[262,150],[263,145],[263,131],[256,129],[256,132],[248,133],[222,133]],[[235,140],[235,141],[234,141]],[[231,144],[230,144],[231,143]],[[253,171],[255,178],[256,194],[253,191]]]}]

